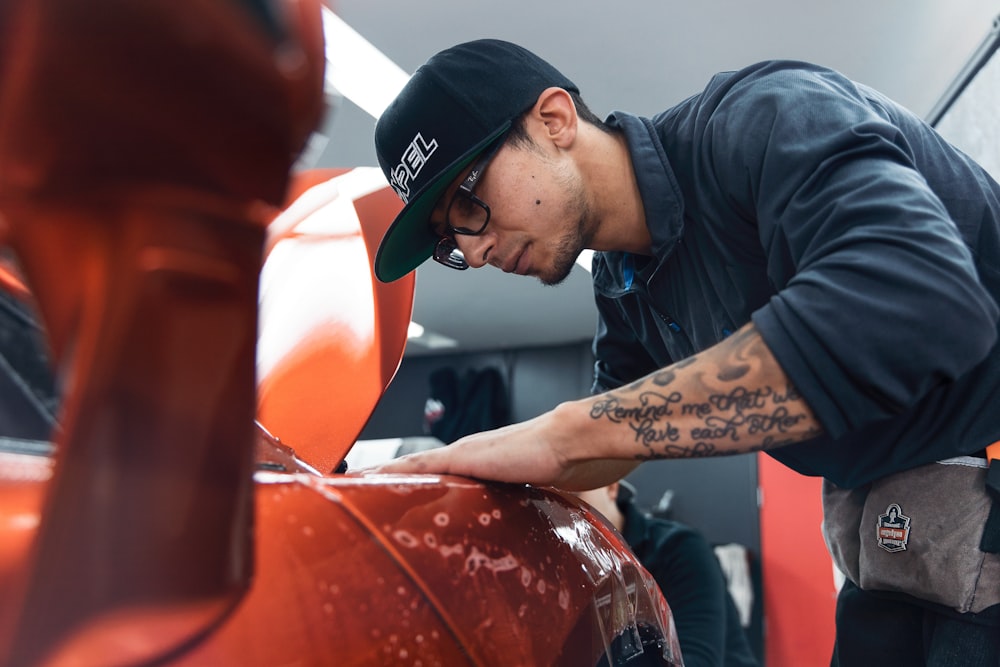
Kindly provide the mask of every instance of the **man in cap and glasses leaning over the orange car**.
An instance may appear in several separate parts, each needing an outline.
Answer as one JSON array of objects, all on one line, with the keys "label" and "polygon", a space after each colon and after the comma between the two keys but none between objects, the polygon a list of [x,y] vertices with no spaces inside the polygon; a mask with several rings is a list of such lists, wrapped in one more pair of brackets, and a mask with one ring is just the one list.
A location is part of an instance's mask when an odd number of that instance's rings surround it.
[{"label": "man in cap and glasses leaning over the orange car", "polygon": [[[759,63],[601,122],[496,40],[431,58],[375,142],[406,202],[380,279],[433,256],[557,283],[591,248],[600,314],[595,396],[383,471],[580,490],[648,459],[764,450],[826,480],[849,579],[836,663],[1000,660],[984,458],[1000,440],[1000,185],[978,165],[815,65]],[[894,552],[874,518],[891,504],[910,518]]]}]

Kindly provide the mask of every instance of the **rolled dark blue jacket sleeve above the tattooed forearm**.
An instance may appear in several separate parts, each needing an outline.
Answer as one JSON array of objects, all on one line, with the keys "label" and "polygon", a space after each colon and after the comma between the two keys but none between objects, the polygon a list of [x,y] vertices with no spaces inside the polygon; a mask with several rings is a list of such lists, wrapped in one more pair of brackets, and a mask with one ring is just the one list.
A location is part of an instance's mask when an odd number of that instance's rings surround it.
[{"label": "rolled dark blue jacket sleeve above the tattooed forearm", "polygon": [[840,75],[779,62],[737,78],[706,125],[707,159],[724,196],[755,211],[777,289],[753,320],[833,437],[912,406],[997,338],[916,137],[890,118]]}]

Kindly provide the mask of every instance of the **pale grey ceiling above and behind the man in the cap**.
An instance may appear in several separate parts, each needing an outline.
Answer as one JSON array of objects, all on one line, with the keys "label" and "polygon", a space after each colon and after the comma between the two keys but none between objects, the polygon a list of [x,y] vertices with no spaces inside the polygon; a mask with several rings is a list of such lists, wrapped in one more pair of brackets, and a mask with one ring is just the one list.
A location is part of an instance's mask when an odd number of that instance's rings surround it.
[{"label": "pale grey ceiling above and behind the man in the cap", "polygon": [[[718,71],[793,58],[839,69],[926,116],[1000,13],[998,0],[619,0],[614,8],[596,0],[330,0],[330,7],[406,73],[458,42],[517,42],[573,79],[598,115],[652,115]],[[314,166],[377,165],[374,124],[338,99]],[[411,342],[407,356],[557,345],[594,332],[590,277],[580,267],[546,287],[490,267],[458,273],[427,262],[416,285],[414,321],[455,345]]]}]

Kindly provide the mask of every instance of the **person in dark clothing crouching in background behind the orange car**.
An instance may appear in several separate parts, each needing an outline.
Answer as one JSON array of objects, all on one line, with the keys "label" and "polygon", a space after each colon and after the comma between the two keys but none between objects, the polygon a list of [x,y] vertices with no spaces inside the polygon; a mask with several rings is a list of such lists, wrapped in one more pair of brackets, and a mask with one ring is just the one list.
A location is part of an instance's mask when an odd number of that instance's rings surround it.
[{"label": "person in dark clothing crouching in background behind the orange car", "polygon": [[685,667],[754,667],[739,612],[711,545],[689,526],[643,514],[627,482],[576,494],[618,529],[656,579],[677,629]]}]

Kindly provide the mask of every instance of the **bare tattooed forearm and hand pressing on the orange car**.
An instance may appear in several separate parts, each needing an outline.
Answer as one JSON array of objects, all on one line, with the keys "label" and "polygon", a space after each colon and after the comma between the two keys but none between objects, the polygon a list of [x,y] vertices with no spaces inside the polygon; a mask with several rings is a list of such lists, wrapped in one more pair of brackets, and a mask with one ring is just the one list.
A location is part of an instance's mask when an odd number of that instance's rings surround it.
[{"label": "bare tattooed forearm and hand pressing on the orange car", "polygon": [[583,491],[621,479],[641,461],[743,454],[821,432],[760,334],[747,324],[705,352],[626,387],[375,470]]}]

